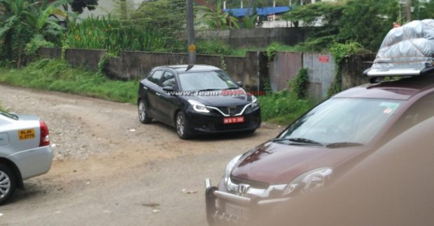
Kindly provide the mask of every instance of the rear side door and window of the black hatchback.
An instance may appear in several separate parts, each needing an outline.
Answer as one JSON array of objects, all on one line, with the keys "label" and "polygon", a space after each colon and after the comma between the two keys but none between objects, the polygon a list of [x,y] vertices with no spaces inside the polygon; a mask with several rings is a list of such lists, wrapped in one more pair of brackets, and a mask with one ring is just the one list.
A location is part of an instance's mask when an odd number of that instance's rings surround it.
[{"label": "rear side door and window of the black hatchback", "polygon": [[160,80],[162,78],[162,75],[164,73],[164,70],[155,70],[151,74],[150,77],[148,77],[148,81],[144,84],[144,89],[146,89],[146,98],[145,102],[147,104],[146,107],[148,107],[148,112],[150,115],[157,120],[162,120],[160,117],[160,111],[158,110],[158,103],[159,103],[159,96],[162,92],[162,88],[160,87]]}]

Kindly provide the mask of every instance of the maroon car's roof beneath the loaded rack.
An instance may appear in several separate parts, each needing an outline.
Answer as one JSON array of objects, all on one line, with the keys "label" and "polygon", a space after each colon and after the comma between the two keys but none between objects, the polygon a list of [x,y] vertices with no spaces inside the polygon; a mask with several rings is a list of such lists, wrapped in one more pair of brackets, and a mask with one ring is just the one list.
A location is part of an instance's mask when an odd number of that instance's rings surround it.
[{"label": "maroon car's roof beneath the loaded rack", "polygon": [[379,98],[408,100],[417,93],[434,89],[434,76],[407,77],[390,82],[364,84],[342,91],[334,98]]}]

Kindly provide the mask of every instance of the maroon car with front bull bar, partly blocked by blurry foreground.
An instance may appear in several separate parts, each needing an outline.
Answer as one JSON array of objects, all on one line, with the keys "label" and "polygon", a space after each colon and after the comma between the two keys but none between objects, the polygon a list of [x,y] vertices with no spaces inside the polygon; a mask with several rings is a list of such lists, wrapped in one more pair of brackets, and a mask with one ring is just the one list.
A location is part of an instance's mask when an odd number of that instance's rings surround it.
[{"label": "maroon car with front bull bar, partly blocked by blurry foreground", "polygon": [[217,187],[207,179],[207,220],[210,225],[242,223],[258,210],[319,188],[433,115],[433,76],[338,93],[276,138],[233,158]]}]

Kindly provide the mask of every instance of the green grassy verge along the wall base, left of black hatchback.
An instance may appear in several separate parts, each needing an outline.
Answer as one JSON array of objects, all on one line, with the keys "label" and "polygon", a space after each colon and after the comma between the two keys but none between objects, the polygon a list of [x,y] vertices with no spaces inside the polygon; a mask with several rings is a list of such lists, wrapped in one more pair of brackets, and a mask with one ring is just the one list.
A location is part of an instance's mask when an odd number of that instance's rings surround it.
[{"label": "green grassy verge along the wall base, left of black hatchback", "polygon": [[136,103],[136,81],[113,81],[102,73],[73,68],[62,60],[42,59],[22,69],[0,69],[0,82],[13,86],[62,91],[83,96]]}]

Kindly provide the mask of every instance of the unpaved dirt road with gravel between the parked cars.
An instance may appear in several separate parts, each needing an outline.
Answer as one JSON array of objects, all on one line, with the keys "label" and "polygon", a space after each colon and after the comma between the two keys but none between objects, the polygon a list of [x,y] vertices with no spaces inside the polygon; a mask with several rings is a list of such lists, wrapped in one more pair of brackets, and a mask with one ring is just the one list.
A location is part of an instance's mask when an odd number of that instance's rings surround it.
[{"label": "unpaved dirt road with gravel between the parked cars", "polygon": [[3,85],[0,103],[41,116],[55,144],[50,172],[0,206],[0,225],[206,225],[204,179],[281,130],[183,141],[130,104]]}]

